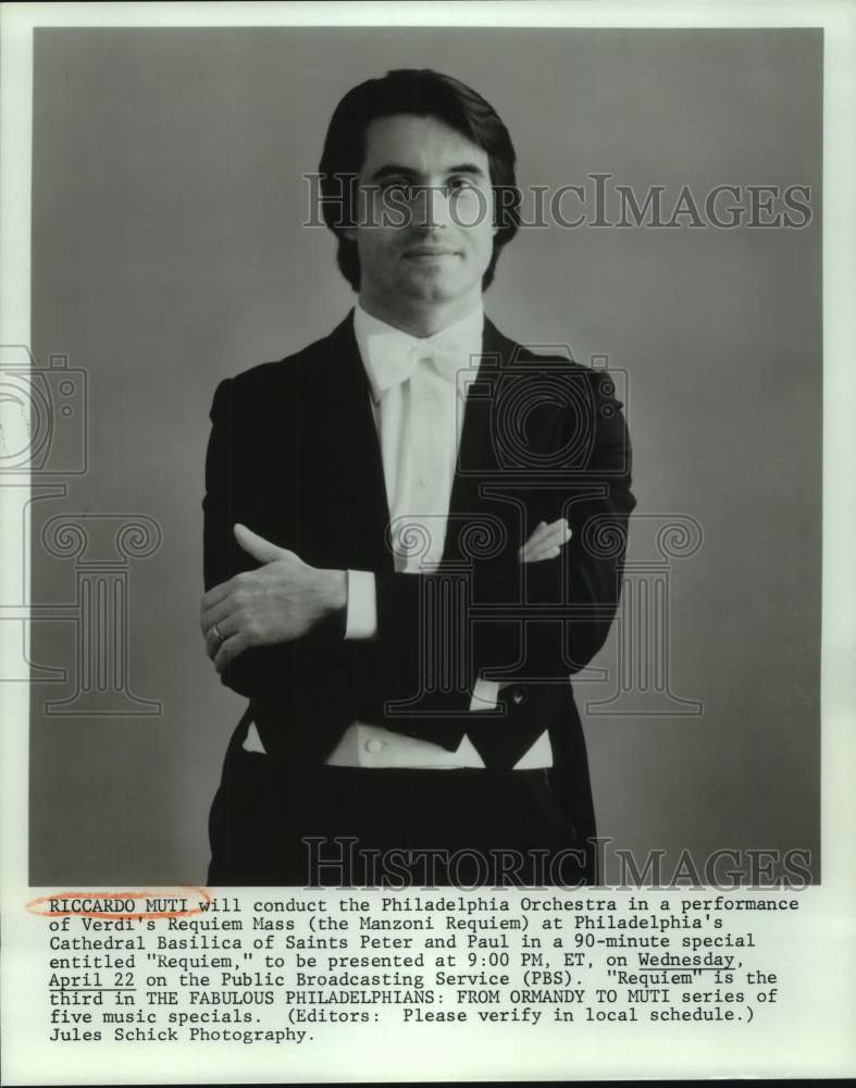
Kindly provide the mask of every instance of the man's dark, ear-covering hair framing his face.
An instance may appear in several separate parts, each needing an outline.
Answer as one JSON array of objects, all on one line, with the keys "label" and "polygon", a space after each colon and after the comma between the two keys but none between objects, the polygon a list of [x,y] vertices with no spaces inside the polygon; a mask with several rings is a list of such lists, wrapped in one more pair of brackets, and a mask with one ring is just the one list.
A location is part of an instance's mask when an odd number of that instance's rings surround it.
[{"label": "man's dark, ear-covering hair framing his face", "polygon": [[[324,222],[338,239],[336,261],[342,274],[360,288],[357,243],[345,237],[350,222],[350,184],[365,159],[365,132],[377,118],[410,113],[433,116],[455,128],[487,152],[499,230],[494,235],[491,263],[482,279],[493,282],[496,262],[520,224],[520,191],[514,178],[517,156],[508,129],[489,102],[471,87],[431,69],[398,69],[368,79],[349,90],[336,107],[321,156],[321,195]],[[499,190],[498,193],[496,190]]]}]

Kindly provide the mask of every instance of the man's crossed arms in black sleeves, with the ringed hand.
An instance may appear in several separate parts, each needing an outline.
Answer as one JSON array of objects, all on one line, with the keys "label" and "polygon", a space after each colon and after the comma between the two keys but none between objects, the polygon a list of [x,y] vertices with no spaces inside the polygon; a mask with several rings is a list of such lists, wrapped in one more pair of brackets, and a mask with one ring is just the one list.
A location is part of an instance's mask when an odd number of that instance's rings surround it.
[{"label": "man's crossed arms in black sleeves, with the ringed hand", "polygon": [[[252,697],[282,691],[289,669],[291,682],[300,682],[305,669],[346,668],[357,670],[367,690],[407,700],[421,690],[425,645],[432,638],[438,645],[459,640],[468,659],[463,687],[469,692],[485,669],[498,669],[487,679],[567,681],[584,667],[615,617],[627,520],[635,506],[620,404],[603,391],[605,383],[598,384],[594,372],[592,378],[595,423],[585,461],[557,482],[548,498],[535,498],[528,507],[529,514],[537,510],[535,517],[562,517],[542,521],[519,549],[499,559],[474,560],[469,595],[457,613],[447,610],[443,630],[431,627],[436,617],[426,614],[425,599],[447,592],[444,572],[374,571],[377,631],[359,642],[344,639],[344,570],[312,567],[238,523],[252,521],[261,509],[248,504],[247,495],[261,493],[258,473],[263,470],[252,456],[233,448],[233,416],[246,409],[234,399],[231,382],[224,382],[211,410],[207,592],[200,611],[207,651],[223,682]],[[579,421],[569,416],[566,425],[573,433]],[[299,461],[299,450],[285,449],[284,456],[289,453]],[[253,562],[257,569],[248,569]],[[318,638],[323,640],[321,653],[313,650]]]}]

